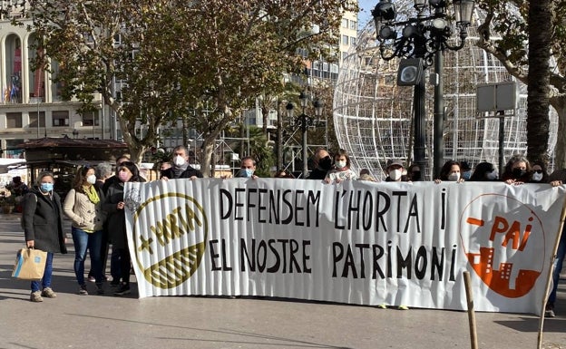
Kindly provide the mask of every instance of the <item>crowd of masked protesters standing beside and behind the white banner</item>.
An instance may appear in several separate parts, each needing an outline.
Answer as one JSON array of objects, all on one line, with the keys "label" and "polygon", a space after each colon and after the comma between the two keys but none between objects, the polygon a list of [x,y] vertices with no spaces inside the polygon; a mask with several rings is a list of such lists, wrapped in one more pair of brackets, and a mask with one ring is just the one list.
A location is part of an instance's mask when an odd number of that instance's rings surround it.
[{"label": "crowd of masked protesters standing beside and behind the white banner", "polygon": [[[359,173],[351,169],[350,157],[346,150],[337,150],[332,156],[326,149],[320,148],[313,156],[313,170],[307,179],[317,179],[325,183],[339,183],[344,180],[381,181],[367,169]],[[183,146],[173,150],[171,162],[162,162],[159,166],[160,179],[198,179],[200,170],[189,164],[189,152]],[[240,169],[235,177],[257,179],[256,160],[245,157],[240,161]],[[415,182],[424,179],[423,169],[417,164],[405,168],[402,160],[389,160],[385,167],[385,182]],[[278,170],[274,178],[294,179],[288,170]],[[104,282],[107,281],[105,270],[107,257],[112,244],[110,274],[111,286],[117,287],[115,296],[130,293],[131,257],[126,238],[123,187],[125,182],[145,181],[140,170],[127,156],[122,156],[115,163],[115,171],[107,163],[96,167],[80,167],[74,178],[73,189],[66,195],[64,202],[54,192],[54,175],[41,173],[36,185],[26,189],[23,206],[23,228],[26,246],[47,251],[47,263],[44,277],[31,284],[32,302],[42,302],[43,297],[54,298],[51,288],[54,253],[66,253],[63,232],[63,215],[72,222],[74,246],[74,273],[78,283],[78,294],[88,295],[86,281],[93,281],[94,292],[104,294]],[[549,175],[542,162],[530,163],[521,155],[512,156],[505,165],[501,176],[490,162],[480,162],[472,169],[466,161],[449,160],[444,163],[435,183],[450,181],[503,181],[509,185],[523,183],[550,183],[560,186],[566,182],[566,169],[555,170]],[[87,252],[90,256],[90,271],[84,277],[84,264]],[[554,263],[552,275],[553,288],[549,296],[546,315],[553,317],[556,290],[560,278],[562,260],[566,255],[566,233],[562,232],[560,245]],[[92,292],[92,291],[91,291]],[[386,305],[380,305],[385,307]],[[399,309],[408,309],[399,305]]]}]

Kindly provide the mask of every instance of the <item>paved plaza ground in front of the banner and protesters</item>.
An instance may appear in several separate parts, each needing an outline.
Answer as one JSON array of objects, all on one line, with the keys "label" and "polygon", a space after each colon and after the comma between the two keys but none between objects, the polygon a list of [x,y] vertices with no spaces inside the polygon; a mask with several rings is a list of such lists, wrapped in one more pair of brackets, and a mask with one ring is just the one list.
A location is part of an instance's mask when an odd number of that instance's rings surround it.
[{"label": "paved plaza ground in front of the banner and protesters", "polygon": [[[112,296],[109,285],[103,296],[79,296],[70,238],[67,243],[69,254],[54,258],[58,297],[31,303],[29,283],[10,276],[15,252],[24,247],[18,217],[0,215],[0,349],[470,348],[465,312],[254,297],[137,299],[135,283],[129,296]],[[566,348],[565,292],[561,286],[558,316],[545,321],[546,349]],[[476,318],[480,348],[537,347],[535,315]]]}]

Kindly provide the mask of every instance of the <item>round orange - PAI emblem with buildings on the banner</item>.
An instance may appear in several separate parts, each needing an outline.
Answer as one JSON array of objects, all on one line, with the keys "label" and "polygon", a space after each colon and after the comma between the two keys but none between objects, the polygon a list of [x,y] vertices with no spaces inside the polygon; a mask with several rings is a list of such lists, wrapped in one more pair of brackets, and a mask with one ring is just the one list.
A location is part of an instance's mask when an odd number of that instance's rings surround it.
[{"label": "round orange - PAI emblem with buildings on the banner", "polygon": [[464,208],[459,223],[464,254],[486,286],[509,298],[531,291],[546,258],[542,222],[532,208],[485,194]]}]

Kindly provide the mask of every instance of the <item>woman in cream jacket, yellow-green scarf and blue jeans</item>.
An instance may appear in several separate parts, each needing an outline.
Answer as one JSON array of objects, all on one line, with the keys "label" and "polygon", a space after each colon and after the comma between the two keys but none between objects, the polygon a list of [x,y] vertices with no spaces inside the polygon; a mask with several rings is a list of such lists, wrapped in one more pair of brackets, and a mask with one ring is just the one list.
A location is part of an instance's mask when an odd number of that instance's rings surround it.
[{"label": "woman in cream jacket, yellow-green scarf and blue jeans", "polygon": [[84,282],[84,260],[88,250],[96,282],[96,293],[102,295],[102,226],[106,212],[102,210],[104,196],[97,189],[94,168],[80,167],[74,176],[73,189],[65,197],[64,214],[71,219],[74,245],[74,275],[79,283],[79,295],[88,295]]}]

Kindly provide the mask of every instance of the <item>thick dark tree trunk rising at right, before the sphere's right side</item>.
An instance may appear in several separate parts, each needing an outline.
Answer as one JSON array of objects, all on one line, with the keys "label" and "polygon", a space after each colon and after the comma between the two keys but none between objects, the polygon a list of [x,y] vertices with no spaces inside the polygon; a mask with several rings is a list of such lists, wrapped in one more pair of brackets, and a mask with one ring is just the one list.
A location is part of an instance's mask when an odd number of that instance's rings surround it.
[{"label": "thick dark tree trunk rising at right, before the sphere's right side", "polygon": [[545,164],[548,162],[550,133],[551,3],[551,0],[530,2],[528,20],[527,155],[529,160]]}]

